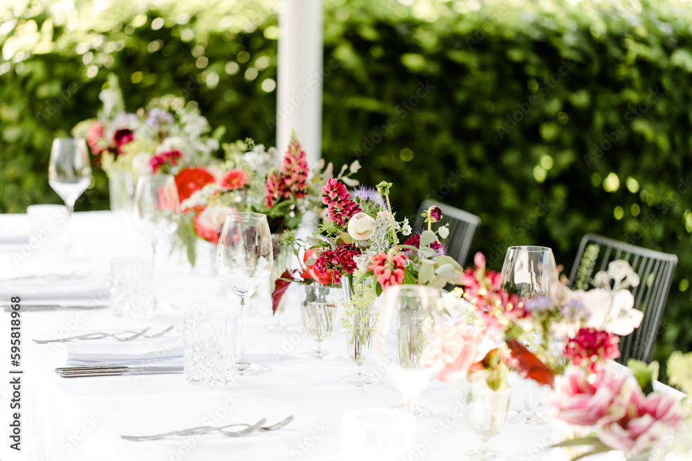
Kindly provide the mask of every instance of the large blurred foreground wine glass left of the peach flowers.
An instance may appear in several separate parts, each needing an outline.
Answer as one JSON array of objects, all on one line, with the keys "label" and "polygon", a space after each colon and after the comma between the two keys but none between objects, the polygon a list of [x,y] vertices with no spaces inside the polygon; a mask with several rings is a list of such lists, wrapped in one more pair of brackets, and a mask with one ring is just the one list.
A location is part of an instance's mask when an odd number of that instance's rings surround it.
[{"label": "large blurred foreground wine glass left of the peach flowers", "polygon": [[432,377],[441,370],[440,364],[421,360],[430,337],[439,323],[438,288],[425,285],[394,285],[385,290],[382,310],[375,336],[375,357],[388,370],[403,404],[392,407],[414,416],[430,411],[415,404]]}]

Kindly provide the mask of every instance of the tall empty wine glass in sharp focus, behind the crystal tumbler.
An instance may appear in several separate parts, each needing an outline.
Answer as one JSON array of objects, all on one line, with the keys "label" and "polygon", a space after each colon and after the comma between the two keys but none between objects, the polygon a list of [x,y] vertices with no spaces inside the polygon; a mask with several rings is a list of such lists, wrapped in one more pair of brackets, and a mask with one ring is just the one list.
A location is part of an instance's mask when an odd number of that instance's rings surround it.
[{"label": "tall empty wine glass in sharp focus, behind the crystal tumbler", "polygon": [[240,349],[235,364],[239,375],[262,375],[270,371],[264,365],[248,361],[245,354],[245,323],[248,298],[268,280],[272,260],[271,234],[266,216],[261,213],[228,214],[217,246],[217,272],[233,294],[240,298]]}]

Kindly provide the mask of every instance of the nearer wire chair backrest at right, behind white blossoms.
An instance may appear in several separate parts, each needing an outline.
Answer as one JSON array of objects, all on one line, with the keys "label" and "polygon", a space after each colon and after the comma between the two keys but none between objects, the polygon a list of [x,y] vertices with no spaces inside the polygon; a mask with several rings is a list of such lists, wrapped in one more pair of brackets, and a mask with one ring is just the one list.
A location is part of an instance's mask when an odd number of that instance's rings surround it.
[{"label": "nearer wire chair backrest at right, behind white blossoms", "polygon": [[[583,260],[584,252],[591,245],[597,245],[599,252],[595,256],[592,267],[586,268],[582,274],[578,270]],[[628,359],[651,361],[651,352],[656,341],[656,335],[666,307],[668,292],[673,283],[673,272],[677,265],[677,256],[648,250],[628,243],[613,240],[596,234],[586,234],[581,239],[579,252],[574,258],[570,286],[572,288],[588,289],[592,277],[601,270],[608,268],[608,263],[624,259],[639,274],[639,285],[631,288],[635,297],[635,308],[644,312],[641,325],[631,335],[620,338],[619,362],[626,364]],[[576,278],[579,280],[575,281]],[[580,286],[575,286],[580,285]]]}]

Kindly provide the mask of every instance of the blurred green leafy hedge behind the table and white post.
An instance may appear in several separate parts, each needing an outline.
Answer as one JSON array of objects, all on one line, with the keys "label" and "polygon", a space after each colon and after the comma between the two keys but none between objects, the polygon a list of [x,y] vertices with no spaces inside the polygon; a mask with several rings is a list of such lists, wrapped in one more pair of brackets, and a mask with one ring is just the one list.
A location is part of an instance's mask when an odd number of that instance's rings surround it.
[{"label": "blurred green leafy hedge behind the table and white post", "polygon": [[[130,111],[174,93],[226,140],[274,143],[277,1],[67,3],[0,16],[0,211],[60,203],[51,141],[108,73]],[[322,156],[393,180],[400,216],[480,215],[495,269],[535,243],[568,272],[586,232],[677,254],[665,361],[692,345],[691,30],[684,1],[326,0]],[[107,194],[96,171],[78,210]]]}]

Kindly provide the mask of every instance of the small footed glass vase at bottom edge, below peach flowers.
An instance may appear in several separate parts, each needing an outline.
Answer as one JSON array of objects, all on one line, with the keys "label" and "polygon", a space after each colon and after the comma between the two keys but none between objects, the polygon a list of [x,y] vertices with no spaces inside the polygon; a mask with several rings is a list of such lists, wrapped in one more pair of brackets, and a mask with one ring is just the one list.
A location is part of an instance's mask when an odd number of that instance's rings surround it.
[{"label": "small footed glass vase at bottom edge, below peach flowers", "polygon": [[506,456],[488,448],[488,440],[497,435],[507,420],[509,387],[493,390],[488,386],[486,371],[468,373],[464,382],[466,402],[466,426],[475,433],[481,446],[462,453],[462,460],[504,460]]}]

